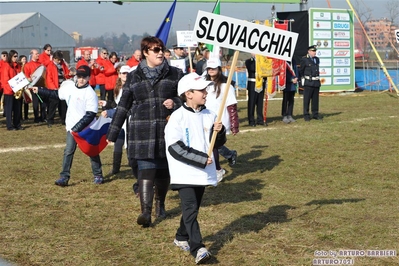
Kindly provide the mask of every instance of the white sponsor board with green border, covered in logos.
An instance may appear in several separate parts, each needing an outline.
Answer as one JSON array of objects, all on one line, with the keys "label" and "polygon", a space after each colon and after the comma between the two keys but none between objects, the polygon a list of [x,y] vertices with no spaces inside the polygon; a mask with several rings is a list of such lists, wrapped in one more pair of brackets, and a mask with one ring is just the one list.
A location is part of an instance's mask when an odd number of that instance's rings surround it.
[{"label": "white sponsor board with green border, covered in logos", "polygon": [[317,45],[320,91],[355,89],[353,19],[349,9],[309,9],[309,43]]}]

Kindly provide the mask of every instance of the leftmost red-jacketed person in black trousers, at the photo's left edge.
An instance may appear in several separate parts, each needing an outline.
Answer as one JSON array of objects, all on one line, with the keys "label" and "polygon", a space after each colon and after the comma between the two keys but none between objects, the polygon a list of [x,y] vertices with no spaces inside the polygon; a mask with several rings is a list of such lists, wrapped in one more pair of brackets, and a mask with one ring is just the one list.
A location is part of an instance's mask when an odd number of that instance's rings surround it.
[{"label": "leftmost red-jacketed person in black trousers, at the photo's left edge", "polygon": [[11,50],[8,60],[1,67],[1,80],[4,87],[4,103],[6,112],[7,130],[23,130],[21,126],[21,100],[15,99],[14,91],[8,81],[21,72],[18,64],[18,52]]}]

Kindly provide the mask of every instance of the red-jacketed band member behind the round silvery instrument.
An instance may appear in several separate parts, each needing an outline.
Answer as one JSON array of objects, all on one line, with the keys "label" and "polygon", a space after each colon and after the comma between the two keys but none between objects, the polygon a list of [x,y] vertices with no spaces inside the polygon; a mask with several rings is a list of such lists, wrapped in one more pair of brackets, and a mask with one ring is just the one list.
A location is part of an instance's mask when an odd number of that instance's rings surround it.
[{"label": "red-jacketed band member behind the round silvery instrument", "polygon": [[[25,77],[32,81],[32,74],[38,69],[42,64],[39,62],[39,51],[36,49],[32,49],[30,51],[31,61],[25,64],[23,72]],[[39,98],[36,93],[32,93],[32,107],[33,107],[33,116],[34,122],[44,122],[46,120],[46,104],[43,102],[39,102]]]}]

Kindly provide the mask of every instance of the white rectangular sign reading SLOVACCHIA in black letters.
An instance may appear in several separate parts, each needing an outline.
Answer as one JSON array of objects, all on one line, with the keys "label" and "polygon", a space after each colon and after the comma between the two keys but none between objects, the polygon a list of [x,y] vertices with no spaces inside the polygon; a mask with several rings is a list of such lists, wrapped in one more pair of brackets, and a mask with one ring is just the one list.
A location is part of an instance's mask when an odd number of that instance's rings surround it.
[{"label": "white rectangular sign reading SLOVACCHIA in black letters", "polygon": [[194,39],[246,53],[291,61],[298,33],[198,11]]}]

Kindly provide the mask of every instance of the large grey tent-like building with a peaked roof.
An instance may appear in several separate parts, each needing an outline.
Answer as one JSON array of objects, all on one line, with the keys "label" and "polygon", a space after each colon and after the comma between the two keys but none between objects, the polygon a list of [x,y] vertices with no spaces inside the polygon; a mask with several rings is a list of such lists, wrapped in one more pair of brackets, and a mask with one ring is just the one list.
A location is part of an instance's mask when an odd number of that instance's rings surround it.
[{"label": "large grey tent-like building with a peaked roof", "polygon": [[45,44],[64,53],[66,62],[73,62],[75,40],[39,12],[0,15],[0,50],[14,49],[29,57],[31,49],[42,52]]}]

